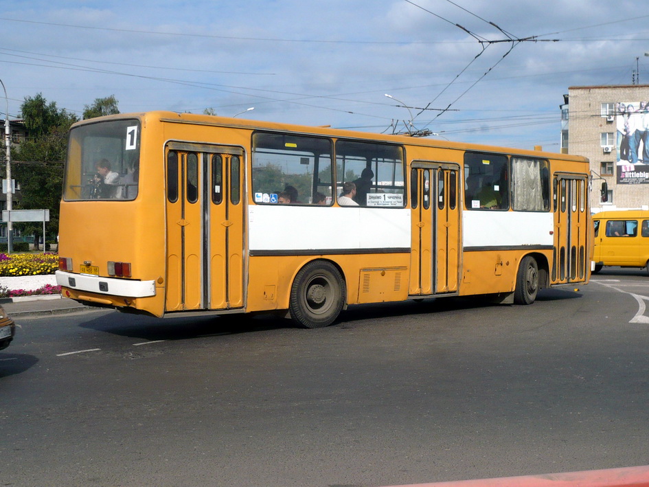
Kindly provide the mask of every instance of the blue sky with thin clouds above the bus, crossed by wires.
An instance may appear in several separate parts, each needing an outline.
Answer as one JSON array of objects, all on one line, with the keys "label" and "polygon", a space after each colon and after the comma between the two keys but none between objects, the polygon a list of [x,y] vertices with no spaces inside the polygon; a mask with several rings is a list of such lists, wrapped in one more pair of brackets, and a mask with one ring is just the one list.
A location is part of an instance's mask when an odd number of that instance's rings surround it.
[{"label": "blue sky with thin clouds above the bus, crossed by wires", "polygon": [[558,152],[568,87],[649,84],[637,0],[0,0],[0,32],[10,118],[114,95]]}]

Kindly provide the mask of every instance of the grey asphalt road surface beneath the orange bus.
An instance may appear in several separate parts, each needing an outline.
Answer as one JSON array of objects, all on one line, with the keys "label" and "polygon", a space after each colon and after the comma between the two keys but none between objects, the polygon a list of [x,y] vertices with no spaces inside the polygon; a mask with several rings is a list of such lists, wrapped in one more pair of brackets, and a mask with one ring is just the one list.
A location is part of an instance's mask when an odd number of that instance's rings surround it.
[{"label": "grey asphalt road surface beneath the orange bus", "polygon": [[649,464],[649,276],[532,306],[23,319],[0,352],[10,486],[383,486]]}]

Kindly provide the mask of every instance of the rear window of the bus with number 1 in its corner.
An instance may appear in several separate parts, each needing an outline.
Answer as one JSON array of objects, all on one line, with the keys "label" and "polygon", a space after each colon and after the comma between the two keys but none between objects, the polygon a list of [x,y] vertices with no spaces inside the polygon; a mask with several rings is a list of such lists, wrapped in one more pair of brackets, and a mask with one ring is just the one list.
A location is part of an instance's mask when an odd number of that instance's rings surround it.
[{"label": "rear window of the bus with number 1 in its corner", "polygon": [[112,120],[73,128],[65,165],[65,201],[137,196],[140,124]]}]

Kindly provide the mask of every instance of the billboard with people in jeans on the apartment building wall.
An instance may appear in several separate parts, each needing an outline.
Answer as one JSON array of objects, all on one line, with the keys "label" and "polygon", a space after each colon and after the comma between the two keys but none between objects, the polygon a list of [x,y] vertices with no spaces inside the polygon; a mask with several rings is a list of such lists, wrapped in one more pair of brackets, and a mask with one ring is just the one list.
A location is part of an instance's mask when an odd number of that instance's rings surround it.
[{"label": "billboard with people in jeans on the apartment building wall", "polygon": [[649,184],[649,102],[615,104],[617,183]]}]

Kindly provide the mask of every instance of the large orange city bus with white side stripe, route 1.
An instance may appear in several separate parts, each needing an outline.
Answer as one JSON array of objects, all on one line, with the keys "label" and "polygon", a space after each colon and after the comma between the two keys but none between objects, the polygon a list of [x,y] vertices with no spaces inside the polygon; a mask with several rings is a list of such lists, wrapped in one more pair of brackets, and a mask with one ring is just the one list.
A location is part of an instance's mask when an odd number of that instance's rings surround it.
[{"label": "large orange city bus with white side stripe, route 1", "polygon": [[[288,313],[587,282],[583,157],[190,113],[73,125],[66,297],[156,317]],[[344,196],[344,197],[343,197]]]}]

